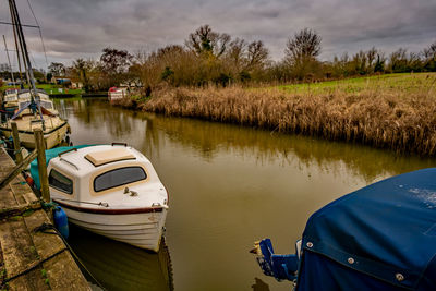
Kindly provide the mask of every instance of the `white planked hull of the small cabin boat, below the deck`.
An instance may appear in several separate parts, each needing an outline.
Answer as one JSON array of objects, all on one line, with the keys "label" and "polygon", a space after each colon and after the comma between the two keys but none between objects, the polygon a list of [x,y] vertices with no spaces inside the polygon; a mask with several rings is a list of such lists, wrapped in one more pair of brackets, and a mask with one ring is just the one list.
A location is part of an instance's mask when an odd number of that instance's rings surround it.
[{"label": "white planked hull of the small cabin boat, below the deck", "polygon": [[65,210],[69,221],[77,227],[141,248],[159,251],[167,208],[93,210],[57,203]]}]

